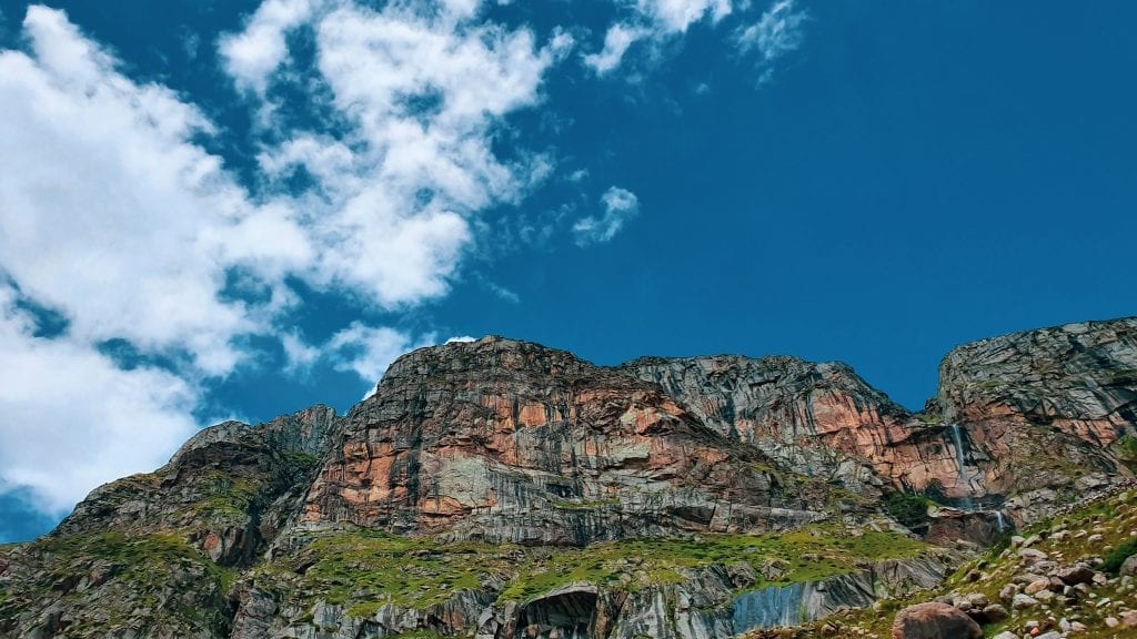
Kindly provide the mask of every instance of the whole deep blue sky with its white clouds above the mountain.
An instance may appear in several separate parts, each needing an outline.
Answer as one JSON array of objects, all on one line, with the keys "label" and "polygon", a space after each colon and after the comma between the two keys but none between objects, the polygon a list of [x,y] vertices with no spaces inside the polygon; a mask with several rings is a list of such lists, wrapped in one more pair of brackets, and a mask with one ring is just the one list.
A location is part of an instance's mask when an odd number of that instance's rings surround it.
[{"label": "whole deep blue sky with its white clouds above the mountain", "polygon": [[1135,313],[1131,2],[0,0],[0,541],[399,352]]}]

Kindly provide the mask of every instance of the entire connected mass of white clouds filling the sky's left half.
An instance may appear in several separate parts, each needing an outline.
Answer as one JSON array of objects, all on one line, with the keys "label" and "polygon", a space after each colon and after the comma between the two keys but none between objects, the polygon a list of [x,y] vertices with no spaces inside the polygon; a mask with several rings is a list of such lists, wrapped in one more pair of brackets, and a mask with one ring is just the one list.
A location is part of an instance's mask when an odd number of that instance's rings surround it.
[{"label": "entire connected mass of white clouds filling the sky's left half", "polygon": [[[283,181],[302,166],[316,185],[268,197],[197,142],[217,134],[200,109],[128,78],[65,13],[28,9],[28,50],[0,51],[0,273],[11,282],[0,492],[58,509],[155,467],[198,425],[201,383],[250,359],[248,337],[279,339],[292,371],[326,360],[368,382],[424,343],[356,323],[313,347],[280,325],[302,302],[292,280],[387,310],[445,294],[472,216],[548,175],[538,155],[498,159],[492,136],[540,100],[572,39],[557,32],[541,47],[528,30],[474,22],[479,8],[266,0],[222,39],[226,70],[256,102],[282,77],[288,33],[313,28],[321,81],[350,125],[273,130],[283,142],[264,147],[263,175]],[[66,332],[36,337],[16,294],[58,310]],[[102,355],[109,341],[173,364],[124,370]],[[45,459],[59,460],[50,476],[36,471]]]}]

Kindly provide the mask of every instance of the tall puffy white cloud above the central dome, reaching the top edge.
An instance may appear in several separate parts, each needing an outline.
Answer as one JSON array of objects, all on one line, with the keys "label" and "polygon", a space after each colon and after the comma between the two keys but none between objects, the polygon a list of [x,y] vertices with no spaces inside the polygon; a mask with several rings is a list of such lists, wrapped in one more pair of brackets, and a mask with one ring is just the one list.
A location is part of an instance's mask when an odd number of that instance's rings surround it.
[{"label": "tall puffy white cloud above the central dome, reaching the top edge", "polygon": [[319,185],[321,201],[296,208],[318,211],[309,233],[335,250],[300,275],[388,309],[445,294],[472,216],[550,174],[541,155],[499,160],[493,136],[506,115],[541,100],[545,72],[573,47],[563,31],[538,48],[528,30],[473,22],[474,1],[414,9],[345,2],[316,16],[318,70],[352,128],[294,132],[258,158],[269,176],[302,166]]}]

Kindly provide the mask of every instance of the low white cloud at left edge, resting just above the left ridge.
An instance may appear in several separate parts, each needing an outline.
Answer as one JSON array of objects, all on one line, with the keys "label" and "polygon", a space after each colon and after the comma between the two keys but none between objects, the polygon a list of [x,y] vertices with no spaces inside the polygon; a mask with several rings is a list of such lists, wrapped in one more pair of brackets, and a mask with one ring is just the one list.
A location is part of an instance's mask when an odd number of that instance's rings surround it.
[{"label": "low white cloud at left edge, resting just above the left ridge", "polygon": [[33,337],[0,284],[0,491],[26,488],[63,514],[93,487],[151,471],[193,433],[197,403],[165,371],[123,371],[70,338]]}]

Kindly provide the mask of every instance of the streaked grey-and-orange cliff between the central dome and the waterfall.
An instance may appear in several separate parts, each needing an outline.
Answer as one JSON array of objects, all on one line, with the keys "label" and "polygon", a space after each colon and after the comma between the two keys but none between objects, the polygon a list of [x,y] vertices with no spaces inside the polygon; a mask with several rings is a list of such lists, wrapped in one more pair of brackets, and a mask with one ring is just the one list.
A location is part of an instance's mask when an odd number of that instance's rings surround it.
[{"label": "streaked grey-and-orange cliff between the central dome and the waterfall", "polygon": [[961,459],[984,453],[938,415],[908,412],[845,364],[650,357],[623,368],[658,383],[719,432],[868,498],[878,498],[881,487],[933,489],[953,499],[984,495],[960,472]]}]

